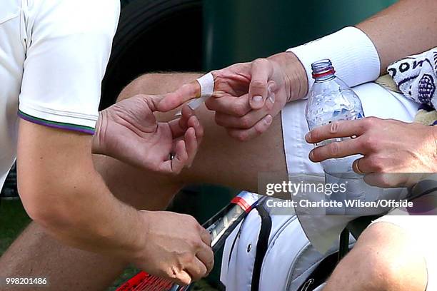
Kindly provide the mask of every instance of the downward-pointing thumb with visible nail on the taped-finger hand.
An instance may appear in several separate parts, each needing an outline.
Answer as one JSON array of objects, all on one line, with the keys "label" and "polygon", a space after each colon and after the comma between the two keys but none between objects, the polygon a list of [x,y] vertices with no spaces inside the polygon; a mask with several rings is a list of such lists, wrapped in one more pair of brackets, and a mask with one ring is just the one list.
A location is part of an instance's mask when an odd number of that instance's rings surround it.
[{"label": "downward-pointing thumb with visible nail on the taped-finger hand", "polygon": [[258,58],[253,61],[251,67],[251,83],[249,85],[249,99],[252,109],[259,109],[264,106],[267,98],[267,82],[273,67],[270,61],[265,58]]}]

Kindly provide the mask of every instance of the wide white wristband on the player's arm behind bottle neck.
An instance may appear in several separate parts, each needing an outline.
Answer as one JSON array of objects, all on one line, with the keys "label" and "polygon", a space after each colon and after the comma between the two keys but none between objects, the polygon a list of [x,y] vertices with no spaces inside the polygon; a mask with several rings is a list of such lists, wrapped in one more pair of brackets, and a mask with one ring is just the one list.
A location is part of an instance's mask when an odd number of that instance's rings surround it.
[{"label": "wide white wristband on the player's arm behind bottle neck", "polygon": [[371,39],[353,26],[287,51],[294,53],[305,67],[308,91],[314,83],[311,63],[323,58],[331,60],[336,76],[350,87],[375,81],[381,70],[378,52]]}]

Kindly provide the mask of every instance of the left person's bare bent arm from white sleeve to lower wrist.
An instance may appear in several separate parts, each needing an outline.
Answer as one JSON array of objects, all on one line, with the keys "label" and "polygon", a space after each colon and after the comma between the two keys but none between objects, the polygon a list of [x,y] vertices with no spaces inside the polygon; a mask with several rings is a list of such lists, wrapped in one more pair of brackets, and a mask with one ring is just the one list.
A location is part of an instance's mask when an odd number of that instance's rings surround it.
[{"label": "left person's bare bent arm from white sleeve to lower wrist", "polygon": [[96,173],[91,137],[21,120],[19,141],[19,193],[31,218],[69,245],[133,258],[144,223]]}]

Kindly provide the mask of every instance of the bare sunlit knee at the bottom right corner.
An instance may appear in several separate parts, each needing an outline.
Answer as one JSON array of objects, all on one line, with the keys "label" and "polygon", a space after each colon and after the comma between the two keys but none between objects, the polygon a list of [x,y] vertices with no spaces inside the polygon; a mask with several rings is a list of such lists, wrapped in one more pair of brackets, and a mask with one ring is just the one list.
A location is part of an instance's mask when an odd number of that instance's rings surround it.
[{"label": "bare sunlit knee at the bottom right corner", "polygon": [[376,223],[338,264],[323,291],[423,291],[426,264],[398,226]]}]

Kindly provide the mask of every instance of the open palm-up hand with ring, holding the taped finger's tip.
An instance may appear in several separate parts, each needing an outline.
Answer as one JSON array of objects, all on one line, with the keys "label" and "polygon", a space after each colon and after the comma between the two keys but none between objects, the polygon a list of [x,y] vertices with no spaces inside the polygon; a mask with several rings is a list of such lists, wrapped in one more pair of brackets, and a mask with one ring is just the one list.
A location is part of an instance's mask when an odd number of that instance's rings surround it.
[{"label": "open palm-up hand with ring, holding the taped finger's tip", "polygon": [[189,108],[179,119],[157,122],[154,111],[160,98],[134,96],[101,111],[93,153],[159,173],[177,174],[190,166],[204,130]]}]

